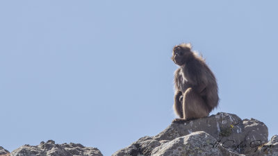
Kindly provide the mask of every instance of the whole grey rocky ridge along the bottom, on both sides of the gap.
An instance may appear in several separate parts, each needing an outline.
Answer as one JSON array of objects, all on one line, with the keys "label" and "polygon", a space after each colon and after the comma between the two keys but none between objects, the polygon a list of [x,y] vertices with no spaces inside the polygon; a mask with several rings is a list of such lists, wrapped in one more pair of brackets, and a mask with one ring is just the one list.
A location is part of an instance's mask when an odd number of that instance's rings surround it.
[{"label": "whole grey rocky ridge along the bottom, on both sides of the gap", "polygon": [[[12,153],[0,146],[0,156],[100,156],[97,148],[81,144],[24,145]],[[113,156],[230,155],[278,156],[278,136],[268,141],[268,128],[256,119],[220,112],[186,123],[171,123],[153,137],[142,137]]]}]

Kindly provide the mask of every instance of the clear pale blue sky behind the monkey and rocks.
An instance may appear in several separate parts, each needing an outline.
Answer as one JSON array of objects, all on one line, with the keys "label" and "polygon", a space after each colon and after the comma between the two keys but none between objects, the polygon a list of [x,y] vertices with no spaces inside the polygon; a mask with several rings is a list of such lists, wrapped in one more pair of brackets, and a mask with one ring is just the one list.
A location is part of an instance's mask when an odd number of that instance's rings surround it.
[{"label": "clear pale blue sky behind the monkey and rocks", "polygon": [[174,119],[175,44],[218,78],[220,106],[277,134],[277,1],[0,1],[0,146],[104,155]]}]

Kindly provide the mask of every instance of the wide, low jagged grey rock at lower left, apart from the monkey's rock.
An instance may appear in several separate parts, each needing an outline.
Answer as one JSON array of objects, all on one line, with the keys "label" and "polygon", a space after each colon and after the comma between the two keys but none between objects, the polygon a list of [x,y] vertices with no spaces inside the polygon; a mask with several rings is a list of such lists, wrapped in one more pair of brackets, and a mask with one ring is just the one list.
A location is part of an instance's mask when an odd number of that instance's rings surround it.
[{"label": "wide, low jagged grey rock at lower left, apart from the monkey's rock", "polygon": [[38,146],[24,145],[10,153],[11,156],[102,156],[97,148],[84,147],[81,144],[55,144],[49,140]]}]

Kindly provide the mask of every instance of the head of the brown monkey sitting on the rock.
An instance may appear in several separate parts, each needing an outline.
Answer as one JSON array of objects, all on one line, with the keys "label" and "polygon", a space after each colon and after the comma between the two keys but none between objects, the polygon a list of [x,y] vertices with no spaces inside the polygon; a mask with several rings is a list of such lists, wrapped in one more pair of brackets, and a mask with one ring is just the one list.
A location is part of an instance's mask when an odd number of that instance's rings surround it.
[{"label": "head of the brown monkey sitting on the rock", "polygon": [[182,66],[192,55],[190,44],[179,44],[174,46],[171,59],[175,64]]}]

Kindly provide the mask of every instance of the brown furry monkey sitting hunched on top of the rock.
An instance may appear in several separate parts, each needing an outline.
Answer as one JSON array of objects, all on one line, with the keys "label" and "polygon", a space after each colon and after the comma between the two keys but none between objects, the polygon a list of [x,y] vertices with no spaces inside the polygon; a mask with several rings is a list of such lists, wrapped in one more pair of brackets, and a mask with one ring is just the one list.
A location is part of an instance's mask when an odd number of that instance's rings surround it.
[{"label": "brown furry monkey sitting hunched on top of the rock", "polygon": [[204,59],[191,51],[190,44],[174,46],[172,60],[179,65],[174,72],[174,112],[188,121],[205,116],[218,106],[218,85]]}]

